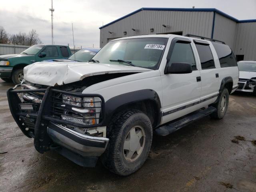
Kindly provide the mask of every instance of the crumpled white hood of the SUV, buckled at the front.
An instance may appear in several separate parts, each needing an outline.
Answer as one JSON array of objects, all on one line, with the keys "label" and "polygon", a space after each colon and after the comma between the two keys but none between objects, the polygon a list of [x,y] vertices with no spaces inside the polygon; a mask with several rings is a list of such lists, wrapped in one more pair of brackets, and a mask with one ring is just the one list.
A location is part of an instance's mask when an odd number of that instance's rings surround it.
[{"label": "crumpled white hood of the SUV, buckled at the front", "polygon": [[146,71],[150,69],[116,64],[36,62],[24,68],[24,79],[35,84],[56,86],[83,80],[88,76]]}]

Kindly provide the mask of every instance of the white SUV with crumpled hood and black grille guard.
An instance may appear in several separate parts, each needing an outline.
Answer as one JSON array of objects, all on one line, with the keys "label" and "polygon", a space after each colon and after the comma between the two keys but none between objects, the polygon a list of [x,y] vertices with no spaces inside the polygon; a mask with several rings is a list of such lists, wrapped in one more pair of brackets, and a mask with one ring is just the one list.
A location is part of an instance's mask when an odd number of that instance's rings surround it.
[{"label": "white SUV with crumpled hood and black grille guard", "polygon": [[12,116],[38,152],[55,150],[81,166],[101,157],[129,175],[144,164],[153,132],[226,114],[238,87],[234,54],[224,42],[193,37],[119,38],[88,63],[31,64],[22,90],[7,92]]}]

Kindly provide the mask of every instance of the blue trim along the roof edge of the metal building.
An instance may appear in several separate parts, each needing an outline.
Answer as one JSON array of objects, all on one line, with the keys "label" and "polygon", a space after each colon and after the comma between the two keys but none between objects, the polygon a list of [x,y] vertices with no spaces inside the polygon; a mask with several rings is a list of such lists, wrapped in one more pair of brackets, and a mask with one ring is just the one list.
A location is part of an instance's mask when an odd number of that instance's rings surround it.
[{"label": "blue trim along the roof edge of the metal building", "polygon": [[218,10],[218,9],[215,9],[215,8],[194,8],[194,9],[193,9],[193,8],[140,8],[140,9],[134,11],[134,12],[131,12],[130,14],[127,14],[127,15],[125,15],[125,16],[122,16],[122,17],[120,17],[120,18],[118,18],[118,19],[116,19],[116,20],[114,20],[114,21],[112,21],[112,22],[110,22],[110,23],[108,23],[108,24],[106,24],[106,25],[104,25],[104,26],[101,26],[99,29],[102,29],[102,28],[104,28],[104,27],[106,27],[106,26],[109,26],[109,25],[111,25],[111,24],[113,24],[113,23],[115,23],[115,22],[118,22],[118,21],[120,21],[120,20],[122,20],[122,19],[124,19],[124,18],[127,18],[127,17],[129,17],[129,16],[131,16],[131,15],[133,15],[133,14],[136,14],[136,13],[142,11],[142,10],[150,10],[150,11],[216,12],[216,13],[218,13],[218,14],[220,14],[220,15],[222,15],[222,16],[225,16],[226,18],[229,18],[229,19],[231,19],[231,20],[233,20],[233,21],[235,21],[235,22],[237,22],[237,23],[256,22],[256,19],[251,19],[251,20],[238,20],[238,19],[236,19],[236,18],[234,18],[234,17],[232,17],[232,16],[230,16],[230,15],[228,15],[228,14],[226,14],[226,13],[224,13],[224,12]]}]

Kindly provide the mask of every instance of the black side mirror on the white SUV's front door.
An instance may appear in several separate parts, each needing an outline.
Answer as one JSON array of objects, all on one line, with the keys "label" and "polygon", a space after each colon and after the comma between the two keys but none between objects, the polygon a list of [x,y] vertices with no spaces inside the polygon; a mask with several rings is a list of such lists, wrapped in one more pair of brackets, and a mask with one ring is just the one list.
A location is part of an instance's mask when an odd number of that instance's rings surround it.
[{"label": "black side mirror on the white SUV's front door", "polygon": [[167,73],[171,74],[185,74],[192,73],[192,66],[189,63],[172,63],[167,67]]}]

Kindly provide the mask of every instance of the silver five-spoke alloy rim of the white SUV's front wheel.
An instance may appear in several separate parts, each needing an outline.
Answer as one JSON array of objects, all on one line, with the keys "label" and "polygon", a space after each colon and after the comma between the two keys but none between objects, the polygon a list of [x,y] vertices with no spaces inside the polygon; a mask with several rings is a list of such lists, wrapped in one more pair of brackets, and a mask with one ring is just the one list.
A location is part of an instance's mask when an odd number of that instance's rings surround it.
[{"label": "silver five-spoke alloy rim of the white SUV's front wheel", "polygon": [[145,131],[142,126],[134,126],[130,129],[123,143],[124,158],[133,162],[140,157],[145,146]]}]

